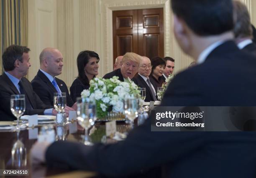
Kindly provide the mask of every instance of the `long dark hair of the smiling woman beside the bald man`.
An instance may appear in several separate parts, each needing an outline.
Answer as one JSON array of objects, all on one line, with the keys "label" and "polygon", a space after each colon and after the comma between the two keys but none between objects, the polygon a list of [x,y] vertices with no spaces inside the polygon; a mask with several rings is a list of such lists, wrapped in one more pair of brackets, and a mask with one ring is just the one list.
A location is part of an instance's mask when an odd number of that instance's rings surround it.
[{"label": "long dark hair of the smiling woman beside the bald man", "polygon": [[77,56],[78,78],[84,85],[90,85],[90,81],[84,73],[84,67],[87,65],[90,58],[97,58],[97,63],[100,61],[99,55],[94,51],[84,50],[81,51]]}]

